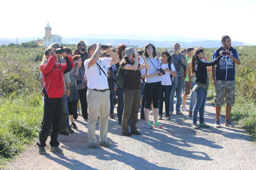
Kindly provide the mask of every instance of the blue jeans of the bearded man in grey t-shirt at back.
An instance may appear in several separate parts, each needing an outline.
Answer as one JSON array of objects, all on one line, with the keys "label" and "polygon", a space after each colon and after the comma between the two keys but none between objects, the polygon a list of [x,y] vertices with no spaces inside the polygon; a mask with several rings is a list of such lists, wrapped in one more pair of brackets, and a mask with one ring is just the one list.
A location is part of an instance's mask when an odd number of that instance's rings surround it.
[{"label": "blue jeans of the bearded man in grey t-shirt at back", "polygon": [[[169,109],[169,112],[171,112],[171,113],[174,111],[174,95],[175,95],[175,92],[176,92],[176,96],[177,96],[176,113],[181,112],[181,104],[182,104],[181,94],[182,94],[182,90],[183,90],[183,87],[184,87],[184,85],[181,85],[181,78],[183,78],[183,77],[178,78],[177,88],[174,87],[174,83],[173,83],[172,88],[171,88],[170,109]],[[177,81],[176,78],[175,78],[175,81]]]}]

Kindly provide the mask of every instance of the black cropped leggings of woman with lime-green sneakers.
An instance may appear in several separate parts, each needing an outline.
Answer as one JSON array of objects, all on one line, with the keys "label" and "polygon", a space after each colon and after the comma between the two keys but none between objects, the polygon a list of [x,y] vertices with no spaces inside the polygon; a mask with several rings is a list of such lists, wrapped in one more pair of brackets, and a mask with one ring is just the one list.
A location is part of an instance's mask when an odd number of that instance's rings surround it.
[{"label": "black cropped leggings of woman with lime-green sneakers", "polygon": [[144,94],[146,97],[146,109],[150,109],[153,101],[153,107],[158,108],[159,96],[161,93],[161,81],[155,83],[145,83]]}]

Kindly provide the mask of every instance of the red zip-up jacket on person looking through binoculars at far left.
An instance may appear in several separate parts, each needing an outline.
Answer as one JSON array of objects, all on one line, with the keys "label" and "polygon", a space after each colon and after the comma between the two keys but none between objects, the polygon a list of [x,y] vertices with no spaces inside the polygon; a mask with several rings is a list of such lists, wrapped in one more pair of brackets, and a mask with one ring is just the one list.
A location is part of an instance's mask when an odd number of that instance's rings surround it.
[{"label": "red zip-up jacket on person looking through binoculars at far left", "polygon": [[50,56],[46,64],[42,64],[40,69],[44,79],[44,89],[49,98],[61,98],[64,93],[64,73],[70,72],[74,68],[71,57],[66,56],[65,64],[57,63],[56,56]]}]

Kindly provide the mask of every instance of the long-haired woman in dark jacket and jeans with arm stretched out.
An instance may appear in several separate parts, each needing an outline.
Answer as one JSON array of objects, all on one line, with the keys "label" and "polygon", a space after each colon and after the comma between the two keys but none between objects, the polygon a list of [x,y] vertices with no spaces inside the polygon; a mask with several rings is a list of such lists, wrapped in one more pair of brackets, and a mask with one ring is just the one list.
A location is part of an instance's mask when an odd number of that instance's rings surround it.
[{"label": "long-haired woman in dark jacket and jeans with arm stretched out", "polygon": [[[199,127],[209,128],[203,121],[204,107],[206,103],[207,91],[209,87],[209,78],[207,68],[208,66],[216,65],[222,56],[217,57],[215,60],[207,62],[203,58],[205,57],[204,51],[201,47],[194,50],[192,56],[192,62],[190,62],[191,73],[196,75],[196,85],[192,91],[197,92],[197,103],[194,105],[193,110],[193,123],[191,128],[199,129]],[[197,125],[197,112],[199,110],[199,126]]]}]

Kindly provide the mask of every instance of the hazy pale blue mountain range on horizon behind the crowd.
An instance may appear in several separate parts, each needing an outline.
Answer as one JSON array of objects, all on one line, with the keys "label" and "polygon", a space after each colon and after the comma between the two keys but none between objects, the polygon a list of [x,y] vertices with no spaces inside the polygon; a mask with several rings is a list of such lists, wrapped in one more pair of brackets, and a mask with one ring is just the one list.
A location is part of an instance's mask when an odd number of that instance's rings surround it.
[{"label": "hazy pale blue mountain range on horizon behind the crowd", "polygon": [[[41,37],[41,36],[39,36]],[[76,44],[80,40],[84,40],[87,45],[92,43],[101,42],[103,44],[112,43],[112,45],[119,45],[125,43],[126,45],[144,47],[147,43],[151,42],[155,47],[172,47],[174,42],[179,42],[181,47],[205,47],[217,48],[221,46],[219,40],[208,40],[206,38],[187,38],[181,36],[156,36],[156,35],[98,35],[98,34],[83,34],[76,37],[84,38],[63,38],[63,44]],[[129,37],[129,38],[127,38]],[[18,38],[18,43],[28,42],[35,40],[35,38]],[[16,44],[16,38],[0,38],[0,45],[9,43]],[[232,46],[245,46],[253,44],[245,44],[240,41],[232,41]]]}]

